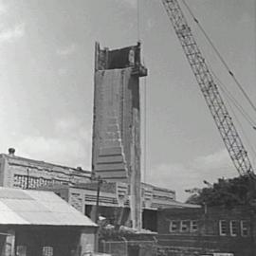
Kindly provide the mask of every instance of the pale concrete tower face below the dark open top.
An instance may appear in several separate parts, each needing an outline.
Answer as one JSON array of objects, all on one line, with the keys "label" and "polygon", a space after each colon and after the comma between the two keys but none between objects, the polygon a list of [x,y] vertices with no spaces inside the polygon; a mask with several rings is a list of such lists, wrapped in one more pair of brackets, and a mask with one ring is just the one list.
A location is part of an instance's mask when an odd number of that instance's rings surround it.
[{"label": "pale concrete tower face below the dark open top", "polygon": [[139,104],[137,88],[138,77],[132,76],[130,67],[95,73],[93,168],[101,178],[129,180],[135,155],[132,143],[134,111]]}]

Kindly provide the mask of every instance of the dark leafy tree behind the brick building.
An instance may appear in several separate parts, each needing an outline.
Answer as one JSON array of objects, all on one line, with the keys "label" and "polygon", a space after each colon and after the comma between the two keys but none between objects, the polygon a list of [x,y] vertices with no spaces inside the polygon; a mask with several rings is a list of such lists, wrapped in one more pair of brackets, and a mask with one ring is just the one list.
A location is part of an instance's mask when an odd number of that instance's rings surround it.
[{"label": "dark leafy tree behind the brick building", "polygon": [[208,187],[186,191],[192,193],[187,203],[234,207],[247,205],[249,201],[256,198],[255,180],[248,175],[231,179],[219,178],[212,185],[209,182],[205,184]]}]

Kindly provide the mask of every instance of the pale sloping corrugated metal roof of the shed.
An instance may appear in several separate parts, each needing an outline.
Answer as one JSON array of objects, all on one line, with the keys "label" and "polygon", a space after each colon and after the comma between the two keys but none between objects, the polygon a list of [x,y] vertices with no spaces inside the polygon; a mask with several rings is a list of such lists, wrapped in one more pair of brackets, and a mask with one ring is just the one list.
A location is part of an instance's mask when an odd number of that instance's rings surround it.
[{"label": "pale sloping corrugated metal roof of the shed", "polygon": [[54,192],[0,188],[0,225],[97,227]]}]

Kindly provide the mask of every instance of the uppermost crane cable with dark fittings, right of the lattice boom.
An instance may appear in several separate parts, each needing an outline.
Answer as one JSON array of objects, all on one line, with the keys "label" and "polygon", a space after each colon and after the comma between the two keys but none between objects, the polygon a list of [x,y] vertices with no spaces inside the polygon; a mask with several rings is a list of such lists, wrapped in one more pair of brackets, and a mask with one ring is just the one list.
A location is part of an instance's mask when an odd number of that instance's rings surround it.
[{"label": "uppermost crane cable with dark fittings, right of the lattice boom", "polygon": [[242,84],[240,82],[238,82],[238,80],[236,79],[234,73],[230,70],[229,65],[227,64],[227,62],[224,60],[224,58],[222,57],[221,53],[219,52],[219,50],[216,48],[216,46],[214,46],[212,40],[210,39],[210,36],[207,34],[206,30],[204,29],[204,27],[201,26],[201,24],[199,23],[198,19],[194,16],[194,14],[192,13],[192,9],[188,6],[188,4],[185,2],[185,0],[181,0],[182,3],[184,4],[184,6],[188,9],[188,11],[190,12],[190,14],[192,15],[192,19],[195,22],[195,24],[199,27],[199,29],[202,31],[202,33],[204,34],[205,38],[207,39],[207,41],[209,42],[210,46],[213,48],[213,50],[215,51],[215,53],[217,54],[217,56],[219,57],[220,61],[222,62],[222,64],[224,64],[224,66],[226,67],[227,71],[229,72],[229,75],[231,76],[231,78],[233,79],[233,81],[235,82],[235,84],[238,86],[238,88],[240,89],[240,91],[242,92],[242,94],[244,95],[244,97],[247,99],[248,103],[250,104],[250,106],[252,107],[252,109],[256,112],[256,106],[253,104],[253,102],[249,99],[247,92],[245,91],[245,89],[243,88]]}]

